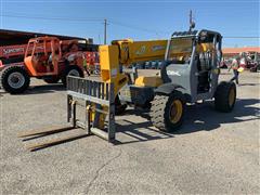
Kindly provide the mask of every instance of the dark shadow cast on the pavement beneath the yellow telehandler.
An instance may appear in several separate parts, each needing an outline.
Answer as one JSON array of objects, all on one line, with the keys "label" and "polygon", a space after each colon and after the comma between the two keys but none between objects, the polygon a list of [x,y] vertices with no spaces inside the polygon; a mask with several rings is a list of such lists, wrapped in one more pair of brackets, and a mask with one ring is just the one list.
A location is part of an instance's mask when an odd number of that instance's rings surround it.
[{"label": "dark shadow cast on the pavement beneath the yellow telehandler", "polygon": [[[127,125],[117,123],[117,132],[121,132],[134,139],[134,141],[117,141],[116,144],[128,144],[134,142],[144,142],[159,139],[174,138],[174,134],[193,133],[197,131],[211,131],[218,129],[221,123],[234,123],[249,120],[260,119],[260,108],[252,107],[253,104],[260,103],[258,99],[240,99],[237,100],[232,113],[219,113],[213,108],[213,102],[206,102],[204,104],[195,104],[186,107],[186,115],[184,123],[178,131],[168,133],[156,129],[150,121],[142,123],[134,123],[127,120]],[[148,118],[147,114],[140,114],[139,112],[128,110],[128,114],[141,115]],[[126,120],[125,120],[126,121]],[[143,129],[147,129],[146,132]],[[148,131],[154,131],[150,133]]]}]

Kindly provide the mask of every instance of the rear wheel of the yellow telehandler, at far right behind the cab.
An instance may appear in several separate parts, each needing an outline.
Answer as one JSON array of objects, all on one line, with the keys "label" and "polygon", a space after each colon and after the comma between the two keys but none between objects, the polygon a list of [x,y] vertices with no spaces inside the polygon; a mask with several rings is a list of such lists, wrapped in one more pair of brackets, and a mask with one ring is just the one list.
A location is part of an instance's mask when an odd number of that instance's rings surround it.
[{"label": "rear wheel of the yellow telehandler, at far right behind the cab", "polygon": [[214,108],[219,112],[230,113],[234,108],[235,101],[236,101],[235,83],[226,81],[220,82],[214,92]]}]

